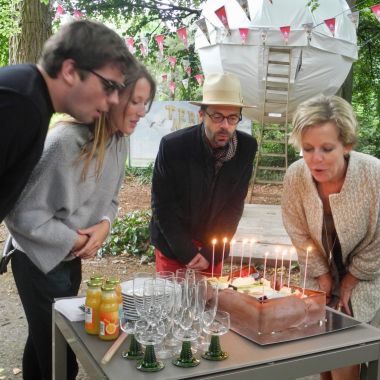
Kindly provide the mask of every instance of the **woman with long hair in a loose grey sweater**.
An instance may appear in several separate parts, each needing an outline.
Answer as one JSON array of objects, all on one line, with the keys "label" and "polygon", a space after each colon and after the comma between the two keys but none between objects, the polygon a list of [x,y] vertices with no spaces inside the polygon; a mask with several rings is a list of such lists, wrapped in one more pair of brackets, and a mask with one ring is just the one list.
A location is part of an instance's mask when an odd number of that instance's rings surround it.
[{"label": "woman with long hair in a loose grey sweater", "polygon": [[[24,379],[52,378],[51,304],[74,296],[81,259],[95,256],[117,213],[133,133],[155,95],[144,67],[128,76],[119,104],[96,125],[61,122],[47,137],[42,158],[6,219],[16,248],[12,270],[29,324]],[[68,379],[78,366],[68,352]]]}]

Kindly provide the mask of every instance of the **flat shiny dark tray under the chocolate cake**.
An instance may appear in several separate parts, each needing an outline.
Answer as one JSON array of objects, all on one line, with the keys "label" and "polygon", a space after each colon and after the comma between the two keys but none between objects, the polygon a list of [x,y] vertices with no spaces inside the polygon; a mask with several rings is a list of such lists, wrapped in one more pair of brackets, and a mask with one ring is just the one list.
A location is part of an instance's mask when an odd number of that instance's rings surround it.
[{"label": "flat shiny dark tray under the chocolate cake", "polygon": [[309,338],[316,335],[329,334],[335,331],[348,329],[359,325],[361,322],[346,314],[335,311],[326,307],[326,319],[321,323],[315,323],[309,326],[300,326],[295,328],[286,329],[280,332],[273,332],[270,334],[252,333],[250,336],[239,331],[239,328],[231,327],[231,330],[255,342],[261,346],[275,343],[289,342],[297,339]]}]

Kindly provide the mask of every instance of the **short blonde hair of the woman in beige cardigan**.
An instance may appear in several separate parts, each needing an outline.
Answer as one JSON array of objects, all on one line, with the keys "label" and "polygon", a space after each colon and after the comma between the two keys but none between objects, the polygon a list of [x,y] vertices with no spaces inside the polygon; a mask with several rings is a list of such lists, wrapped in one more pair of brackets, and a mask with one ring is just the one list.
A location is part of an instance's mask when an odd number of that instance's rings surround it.
[{"label": "short blonde hair of the woman in beige cardigan", "polygon": [[339,96],[317,95],[298,105],[289,142],[301,148],[302,136],[313,126],[333,122],[344,146],[355,145],[357,120],[350,103]]}]

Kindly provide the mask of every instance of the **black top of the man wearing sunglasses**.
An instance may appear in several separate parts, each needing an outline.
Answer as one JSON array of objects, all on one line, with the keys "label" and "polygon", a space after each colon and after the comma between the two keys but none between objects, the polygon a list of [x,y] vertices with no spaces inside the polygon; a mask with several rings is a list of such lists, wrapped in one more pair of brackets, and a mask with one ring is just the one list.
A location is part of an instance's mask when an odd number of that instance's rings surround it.
[{"label": "black top of the man wearing sunglasses", "polygon": [[41,157],[53,112],[46,83],[35,65],[0,68],[0,221]]}]

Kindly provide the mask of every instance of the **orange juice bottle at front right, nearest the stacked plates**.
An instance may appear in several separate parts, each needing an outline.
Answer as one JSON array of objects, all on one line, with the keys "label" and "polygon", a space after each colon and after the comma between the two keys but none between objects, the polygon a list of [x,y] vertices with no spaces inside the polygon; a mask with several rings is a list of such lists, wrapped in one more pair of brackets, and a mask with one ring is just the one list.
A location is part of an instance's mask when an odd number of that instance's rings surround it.
[{"label": "orange juice bottle at front right, nearest the stacked plates", "polygon": [[114,340],[119,335],[119,301],[115,285],[102,286],[102,300],[99,308],[99,338]]}]

